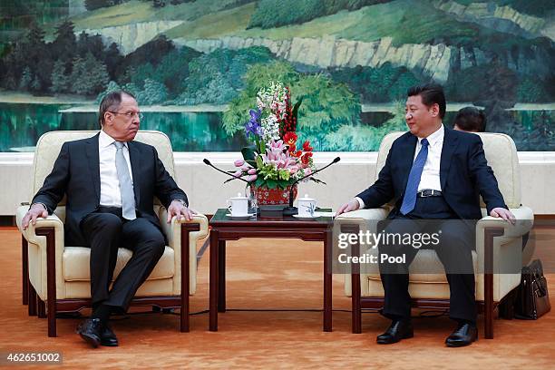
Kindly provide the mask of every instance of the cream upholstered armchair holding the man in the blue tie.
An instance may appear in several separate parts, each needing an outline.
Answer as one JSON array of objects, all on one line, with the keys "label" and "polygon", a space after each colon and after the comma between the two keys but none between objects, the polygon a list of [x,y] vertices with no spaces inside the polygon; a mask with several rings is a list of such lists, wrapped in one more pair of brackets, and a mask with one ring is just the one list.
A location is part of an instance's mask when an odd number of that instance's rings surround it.
[{"label": "cream upholstered armchair holding the man in the blue tie", "polygon": [[[387,153],[395,139],[403,132],[385,136],[378,152],[375,179],[385,165]],[[533,213],[521,206],[521,180],[516,147],[511,138],[501,133],[480,133],[483,148],[499,182],[505,203],[514,213],[517,223],[509,225],[502,219],[487,216],[482,202],[483,218],[476,226],[476,250],[472,251],[476,275],[476,300],[485,314],[485,337],[493,337],[493,313],[501,299],[511,293],[521,282],[521,256],[530,258],[531,251],[521,252],[522,236],[531,230]],[[374,180],[369,181],[373,183]],[[336,218],[336,232],[357,233],[359,230],[375,231],[376,220],[385,219],[390,207],[358,209]],[[374,228],[374,230],[373,230]],[[359,248],[359,246],[355,246]],[[353,251],[377,254],[377,248]],[[515,265],[515,261],[518,266]],[[528,263],[528,261],[522,261]],[[444,274],[424,274],[424,269],[443,271],[443,266],[432,249],[418,252],[409,268],[409,293],[414,307],[448,308],[449,284]],[[361,308],[381,308],[384,289],[377,264],[352,265],[352,274],[346,275],[346,295],[352,297],[353,333],[361,332]],[[417,272],[413,273],[411,271]]]}]

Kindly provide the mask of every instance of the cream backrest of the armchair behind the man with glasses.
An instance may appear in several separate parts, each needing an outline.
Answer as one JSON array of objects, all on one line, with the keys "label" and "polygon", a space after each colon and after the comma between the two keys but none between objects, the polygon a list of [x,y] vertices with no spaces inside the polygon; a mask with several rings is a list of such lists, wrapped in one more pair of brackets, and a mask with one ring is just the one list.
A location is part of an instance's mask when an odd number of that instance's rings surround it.
[{"label": "cream backrest of the armchair behind the man with glasses", "polygon": [[[31,198],[41,189],[44,179],[54,168],[54,161],[62,149],[63,142],[90,138],[98,131],[50,131],[44,133],[36,143],[33,160],[33,182]],[[135,141],[150,144],[158,151],[158,156],[164,167],[174,177],[173,151],[168,136],[161,131],[139,131]],[[59,205],[65,204],[65,197]]]}]

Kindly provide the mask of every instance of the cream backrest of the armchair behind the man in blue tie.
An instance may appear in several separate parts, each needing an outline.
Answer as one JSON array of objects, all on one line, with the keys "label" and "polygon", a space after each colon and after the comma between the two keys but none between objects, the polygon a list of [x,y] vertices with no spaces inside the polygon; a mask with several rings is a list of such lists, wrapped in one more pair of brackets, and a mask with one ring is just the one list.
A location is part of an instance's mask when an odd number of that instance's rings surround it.
[{"label": "cream backrest of the armchair behind the man in blue tie", "polygon": [[[384,167],[387,153],[393,142],[403,134],[404,132],[395,131],[385,135],[378,151],[374,180],[377,180],[380,170]],[[521,206],[521,172],[514,141],[504,133],[481,132],[478,135],[482,138],[483,151],[495,174],[505,203],[509,208],[519,208]],[[482,198],[480,206],[485,208]]]}]

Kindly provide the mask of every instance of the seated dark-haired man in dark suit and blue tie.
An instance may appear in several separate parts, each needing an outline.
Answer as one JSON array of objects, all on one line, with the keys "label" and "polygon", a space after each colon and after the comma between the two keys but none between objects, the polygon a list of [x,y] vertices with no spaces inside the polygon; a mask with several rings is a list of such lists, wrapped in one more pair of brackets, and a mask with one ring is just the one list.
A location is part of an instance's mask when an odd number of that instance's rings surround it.
[{"label": "seated dark-haired man in dark suit and blue tie", "polygon": [[[337,214],[378,208],[394,200],[383,226],[385,234],[431,234],[441,229],[441,242],[431,247],[447,273],[450,316],[458,323],[445,343],[468,346],[477,338],[472,240],[474,220],[482,219],[480,196],[492,217],[514,222],[514,216],[487,164],[480,136],[443,126],[444,114],[440,85],[410,88],[405,106],[409,131],[394,141],[374,185],[341,206]],[[397,241],[378,248],[380,257],[404,257],[400,263],[380,264],[385,290],[382,314],[392,324],[377,336],[377,343],[391,344],[413,336],[408,267],[418,246]]]}]

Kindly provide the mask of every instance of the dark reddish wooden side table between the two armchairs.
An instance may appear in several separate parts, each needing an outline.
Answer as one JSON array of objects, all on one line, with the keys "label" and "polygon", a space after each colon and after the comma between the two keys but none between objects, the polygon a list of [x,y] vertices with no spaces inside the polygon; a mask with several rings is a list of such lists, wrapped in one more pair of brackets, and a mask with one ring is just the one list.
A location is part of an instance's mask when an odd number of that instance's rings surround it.
[{"label": "dark reddish wooden side table between the two armchairs", "polygon": [[[329,210],[329,209],[322,209]],[[333,219],[296,219],[291,216],[258,216],[257,219],[230,219],[228,209],[218,209],[209,225],[209,330],[218,331],[218,313],[226,312],[226,240],[242,238],[302,239],[324,242],[323,330],[332,331],[332,228]]]}]

